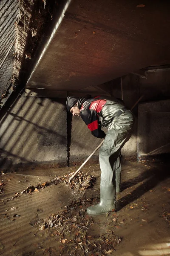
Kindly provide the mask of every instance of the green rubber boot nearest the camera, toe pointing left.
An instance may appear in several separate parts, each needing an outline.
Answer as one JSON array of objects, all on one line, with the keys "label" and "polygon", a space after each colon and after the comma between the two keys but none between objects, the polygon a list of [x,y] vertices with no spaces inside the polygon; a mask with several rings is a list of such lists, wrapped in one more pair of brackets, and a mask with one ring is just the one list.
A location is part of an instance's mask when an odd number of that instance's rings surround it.
[{"label": "green rubber boot nearest the camera, toe pointing left", "polygon": [[99,215],[110,212],[115,209],[116,189],[113,185],[100,185],[100,202],[94,206],[88,207],[87,213]]}]

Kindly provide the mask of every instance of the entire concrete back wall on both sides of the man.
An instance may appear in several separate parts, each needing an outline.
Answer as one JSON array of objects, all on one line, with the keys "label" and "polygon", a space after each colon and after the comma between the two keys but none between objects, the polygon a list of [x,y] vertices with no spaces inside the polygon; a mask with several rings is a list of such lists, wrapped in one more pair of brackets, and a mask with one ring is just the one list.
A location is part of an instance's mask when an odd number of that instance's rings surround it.
[{"label": "entire concrete back wall on both sides of the man", "polygon": [[[125,105],[131,108],[141,95],[144,95],[143,102],[166,99],[170,95],[169,84],[169,72],[149,73],[147,79],[128,74],[122,78]],[[120,78],[101,84],[99,89],[93,94],[101,95],[105,91],[121,98]],[[82,163],[102,140],[91,135],[81,118],[71,119],[66,112],[65,99],[32,96],[35,95],[28,92],[26,97],[17,98],[1,111],[4,115],[0,119],[0,166],[8,168],[12,164],[28,163],[66,166]],[[123,159],[136,159],[137,124],[139,157],[169,152],[169,108],[168,101],[165,102],[143,103],[143,107],[139,107],[139,117],[137,106],[133,109],[136,122],[132,137],[122,148]],[[98,155],[99,151],[90,162],[97,162]]]}]

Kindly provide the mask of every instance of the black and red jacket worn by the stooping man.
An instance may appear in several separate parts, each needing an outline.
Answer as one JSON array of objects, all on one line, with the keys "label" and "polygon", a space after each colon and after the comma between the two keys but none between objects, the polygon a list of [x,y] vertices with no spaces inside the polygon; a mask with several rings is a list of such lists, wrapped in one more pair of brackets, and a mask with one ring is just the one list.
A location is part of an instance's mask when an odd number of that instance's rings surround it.
[{"label": "black and red jacket worn by the stooping man", "polygon": [[99,122],[99,113],[106,104],[104,97],[96,96],[95,98],[85,99],[81,98],[77,102],[80,109],[80,116],[82,120],[88,125],[91,133],[97,138],[104,138],[105,132],[101,130]]}]

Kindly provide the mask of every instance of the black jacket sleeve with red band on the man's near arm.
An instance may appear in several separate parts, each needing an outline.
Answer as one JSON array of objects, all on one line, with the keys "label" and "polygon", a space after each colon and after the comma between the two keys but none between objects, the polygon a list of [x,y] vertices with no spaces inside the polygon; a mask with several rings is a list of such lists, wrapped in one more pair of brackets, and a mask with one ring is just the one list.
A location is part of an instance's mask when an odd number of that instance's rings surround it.
[{"label": "black jacket sleeve with red band on the man's near arm", "polygon": [[99,118],[96,111],[94,110],[82,110],[80,112],[82,120],[88,125],[91,130],[91,134],[95,137],[103,139],[105,137],[105,132],[101,130],[101,125],[99,125]]}]

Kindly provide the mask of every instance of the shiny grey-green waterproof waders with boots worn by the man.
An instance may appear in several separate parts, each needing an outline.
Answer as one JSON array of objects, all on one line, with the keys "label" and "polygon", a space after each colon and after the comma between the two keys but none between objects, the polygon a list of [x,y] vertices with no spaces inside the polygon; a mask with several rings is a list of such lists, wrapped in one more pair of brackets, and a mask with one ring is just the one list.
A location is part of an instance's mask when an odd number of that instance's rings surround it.
[{"label": "shiny grey-green waterproof waders with boots worn by the man", "polygon": [[100,202],[88,207],[89,214],[102,214],[116,208],[116,192],[119,192],[120,186],[120,151],[130,138],[134,122],[132,112],[114,100],[107,100],[99,119],[108,132],[99,152]]}]

